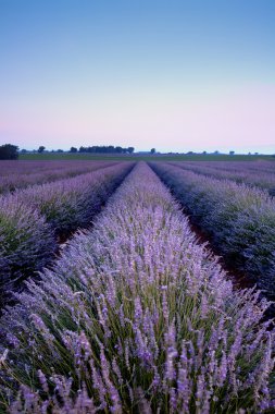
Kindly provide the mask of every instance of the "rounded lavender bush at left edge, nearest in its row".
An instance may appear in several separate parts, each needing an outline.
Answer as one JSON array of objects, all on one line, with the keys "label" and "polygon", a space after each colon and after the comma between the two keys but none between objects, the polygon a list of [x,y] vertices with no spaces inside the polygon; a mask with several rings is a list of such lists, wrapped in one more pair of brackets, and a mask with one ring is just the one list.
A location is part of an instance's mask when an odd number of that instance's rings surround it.
[{"label": "rounded lavender bush at left edge, nearest in its row", "polygon": [[16,197],[0,200],[0,296],[16,280],[40,270],[57,249],[52,229]]}]

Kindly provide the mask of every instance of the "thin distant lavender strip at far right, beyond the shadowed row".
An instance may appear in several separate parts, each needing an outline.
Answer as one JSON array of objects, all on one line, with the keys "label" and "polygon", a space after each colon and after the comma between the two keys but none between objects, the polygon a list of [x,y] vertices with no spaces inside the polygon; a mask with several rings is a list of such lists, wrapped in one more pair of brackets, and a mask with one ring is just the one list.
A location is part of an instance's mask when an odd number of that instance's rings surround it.
[{"label": "thin distant lavender strip at far right, beyond the shadowed row", "polygon": [[[271,196],[275,196],[275,169],[273,171],[264,172],[264,162],[261,162],[261,168],[255,168],[257,163],[253,162],[254,169],[251,170],[249,165],[251,162],[247,161],[240,162],[241,167],[236,169],[229,168],[230,162],[223,166],[215,166],[215,162],[168,162],[172,166],[177,166],[184,170],[190,170],[197,174],[202,174],[211,176],[217,180],[233,180],[237,183],[243,183],[248,186],[260,187],[264,191],[267,191]],[[275,166],[275,162],[273,162]]]}]

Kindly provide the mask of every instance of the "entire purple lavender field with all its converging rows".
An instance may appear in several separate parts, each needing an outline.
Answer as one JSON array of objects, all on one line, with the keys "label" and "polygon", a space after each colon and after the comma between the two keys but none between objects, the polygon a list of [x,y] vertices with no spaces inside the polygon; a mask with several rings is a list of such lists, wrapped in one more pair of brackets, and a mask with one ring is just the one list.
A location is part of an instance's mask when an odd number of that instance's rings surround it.
[{"label": "entire purple lavender field with all its converging rows", "polygon": [[274,188],[267,161],[2,161],[0,412],[274,413]]}]

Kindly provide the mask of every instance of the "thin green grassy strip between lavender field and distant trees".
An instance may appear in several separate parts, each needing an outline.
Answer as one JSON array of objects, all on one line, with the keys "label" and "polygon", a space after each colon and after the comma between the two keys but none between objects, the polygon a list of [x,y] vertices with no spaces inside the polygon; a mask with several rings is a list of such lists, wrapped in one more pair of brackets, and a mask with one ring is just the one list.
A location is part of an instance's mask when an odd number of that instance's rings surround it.
[{"label": "thin green grassy strip between lavender field and distant trees", "polygon": [[227,154],[207,154],[207,155],[113,155],[113,154],[70,154],[70,153],[45,153],[45,154],[21,154],[21,160],[116,160],[116,161],[255,161],[273,160],[274,156],[267,155],[227,155]]}]

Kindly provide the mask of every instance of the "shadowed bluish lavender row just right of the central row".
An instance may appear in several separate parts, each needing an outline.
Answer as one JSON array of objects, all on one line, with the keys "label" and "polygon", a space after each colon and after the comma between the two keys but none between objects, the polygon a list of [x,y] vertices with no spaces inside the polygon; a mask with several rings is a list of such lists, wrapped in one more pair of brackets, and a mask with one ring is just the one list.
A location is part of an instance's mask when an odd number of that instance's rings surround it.
[{"label": "shadowed bluish lavender row just right of the central row", "polygon": [[150,163],[235,268],[275,294],[275,200],[260,188]]}]

